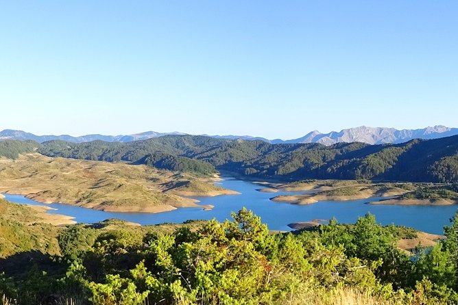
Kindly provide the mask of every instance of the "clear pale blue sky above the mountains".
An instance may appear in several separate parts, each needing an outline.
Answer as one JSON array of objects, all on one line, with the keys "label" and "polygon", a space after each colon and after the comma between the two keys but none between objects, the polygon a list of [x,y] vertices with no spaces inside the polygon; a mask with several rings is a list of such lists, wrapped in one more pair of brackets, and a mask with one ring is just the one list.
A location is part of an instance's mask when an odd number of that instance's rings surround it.
[{"label": "clear pale blue sky above the mountains", "polygon": [[458,1],[3,1],[0,129],[458,127]]}]

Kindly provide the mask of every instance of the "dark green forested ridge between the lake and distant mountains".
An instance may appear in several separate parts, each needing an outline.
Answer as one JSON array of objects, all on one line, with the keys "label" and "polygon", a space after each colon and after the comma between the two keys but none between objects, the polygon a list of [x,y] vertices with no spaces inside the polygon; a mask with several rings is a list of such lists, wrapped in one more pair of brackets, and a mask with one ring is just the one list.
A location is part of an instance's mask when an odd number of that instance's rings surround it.
[{"label": "dark green forested ridge between the lake and distant mountains", "polygon": [[269,144],[263,141],[167,135],[130,143],[51,141],[39,152],[49,157],[146,163],[167,170],[283,181],[370,179],[450,183],[458,177],[458,136],[402,144]]}]

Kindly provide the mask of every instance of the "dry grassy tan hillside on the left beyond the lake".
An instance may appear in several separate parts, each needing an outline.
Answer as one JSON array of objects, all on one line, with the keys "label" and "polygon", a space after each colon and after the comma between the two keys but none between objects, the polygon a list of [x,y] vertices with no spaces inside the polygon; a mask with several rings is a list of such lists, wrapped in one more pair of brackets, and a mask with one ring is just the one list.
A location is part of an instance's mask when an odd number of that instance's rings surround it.
[{"label": "dry grassy tan hillside on the left beyond the lake", "polygon": [[[198,182],[197,182],[198,181]],[[63,202],[104,211],[169,211],[194,207],[194,200],[173,194],[170,183],[191,183],[190,190],[224,191],[209,178],[175,174],[145,165],[108,163],[42,155],[0,161],[0,191],[25,194],[41,202]],[[193,189],[192,183],[198,183]]]}]

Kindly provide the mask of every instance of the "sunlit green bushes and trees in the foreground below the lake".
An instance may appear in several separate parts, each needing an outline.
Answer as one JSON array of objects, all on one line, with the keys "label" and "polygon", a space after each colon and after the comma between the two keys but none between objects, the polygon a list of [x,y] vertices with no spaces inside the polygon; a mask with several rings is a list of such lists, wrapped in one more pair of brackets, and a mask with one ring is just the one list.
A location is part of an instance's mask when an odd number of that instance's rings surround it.
[{"label": "sunlit green bushes and trees in the foreground below the lake", "polygon": [[14,216],[16,204],[1,201],[10,209],[2,232],[39,241],[0,239],[0,295],[18,304],[458,302],[456,215],[446,240],[407,254],[396,241],[416,231],[373,215],[273,235],[245,209],[222,224],[56,227],[21,224],[26,212]]}]

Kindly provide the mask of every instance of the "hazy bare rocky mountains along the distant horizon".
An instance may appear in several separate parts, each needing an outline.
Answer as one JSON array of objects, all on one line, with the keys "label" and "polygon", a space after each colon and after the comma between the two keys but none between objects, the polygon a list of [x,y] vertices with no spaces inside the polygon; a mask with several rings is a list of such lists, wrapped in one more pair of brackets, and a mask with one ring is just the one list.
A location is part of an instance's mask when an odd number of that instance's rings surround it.
[{"label": "hazy bare rocky mountains along the distant horizon", "polygon": [[[25,131],[5,129],[0,131],[0,140],[34,140],[39,143],[51,140],[63,140],[67,142],[91,142],[101,140],[105,142],[132,142],[138,140],[147,140],[164,135],[185,135],[185,133],[171,132],[158,133],[156,131],[146,131],[143,133],[134,133],[132,135],[82,135],[73,137],[71,135],[34,135]],[[292,140],[268,140],[264,137],[253,137],[251,135],[210,135],[210,137],[221,139],[242,139],[242,140],[261,140],[270,144],[295,144],[295,143],[320,143],[330,146],[341,142],[362,142],[366,144],[387,144],[403,143],[413,139],[437,139],[439,137],[448,137],[458,135],[458,128],[450,128],[442,125],[426,127],[423,129],[394,129],[385,127],[354,127],[343,129],[341,131],[331,131],[330,133],[320,133],[320,131],[311,131],[303,137]],[[207,135],[206,135],[207,136]]]}]

